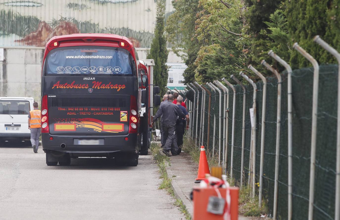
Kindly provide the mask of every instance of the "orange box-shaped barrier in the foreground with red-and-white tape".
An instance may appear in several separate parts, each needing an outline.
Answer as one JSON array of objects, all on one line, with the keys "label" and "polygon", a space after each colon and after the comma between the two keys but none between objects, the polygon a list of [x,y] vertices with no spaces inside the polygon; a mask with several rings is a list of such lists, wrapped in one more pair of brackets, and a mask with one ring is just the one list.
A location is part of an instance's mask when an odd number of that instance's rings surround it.
[{"label": "orange box-shaped barrier in the foreground with red-and-white tape", "polygon": [[[226,189],[225,188],[217,188],[221,193],[221,197],[225,200],[226,198]],[[231,220],[238,220],[238,187],[230,187],[230,217]],[[223,215],[216,215],[207,212],[207,206],[209,202],[209,197],[218,196],[216,189],[213,187],[208,188],[193,188],[193,220],[224,220]],[[225,204],[227,205],[227,204]],[[226,210],[226,209],[225,209]]]}]

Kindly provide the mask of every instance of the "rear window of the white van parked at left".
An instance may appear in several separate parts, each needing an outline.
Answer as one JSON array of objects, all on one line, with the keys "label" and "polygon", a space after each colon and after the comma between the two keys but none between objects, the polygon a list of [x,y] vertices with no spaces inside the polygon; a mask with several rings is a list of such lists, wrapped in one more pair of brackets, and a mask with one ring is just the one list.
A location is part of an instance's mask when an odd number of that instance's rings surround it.
[{"label": "rear window of the white van parked at left", "polygon": [[29,114],[29,101],[0,100],[0,114]]}]

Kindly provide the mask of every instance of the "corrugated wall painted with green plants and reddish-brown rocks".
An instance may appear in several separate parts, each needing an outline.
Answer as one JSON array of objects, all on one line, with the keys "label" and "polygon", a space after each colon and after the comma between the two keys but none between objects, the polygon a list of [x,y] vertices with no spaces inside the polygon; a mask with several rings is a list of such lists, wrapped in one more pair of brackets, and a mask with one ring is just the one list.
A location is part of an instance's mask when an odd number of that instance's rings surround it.
[{"label": "corrugated wall painted with green plants and reddish-brown rocks", "polygon": [[[166,0],[166,18],[172,13]],[[150,47],[155,0],[0,0],[0,46],[45,47],[55,35],[111,33]]]}]

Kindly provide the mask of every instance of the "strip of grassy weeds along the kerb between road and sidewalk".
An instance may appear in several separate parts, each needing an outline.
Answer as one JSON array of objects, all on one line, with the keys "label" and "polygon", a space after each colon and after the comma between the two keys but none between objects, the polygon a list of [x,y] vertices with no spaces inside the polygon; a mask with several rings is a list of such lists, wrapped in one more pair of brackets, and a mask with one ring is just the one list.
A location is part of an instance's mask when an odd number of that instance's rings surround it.
[{"label": "strip of grassy weeds along the kerb between road and sidewalk", "polygon": [[[170,166],[170,158],[160,152],[160,147],[156,143],[152,143],[150,149],[151,149],[153,158],[156,161],[156,164],[158,166],[160,178],[163,179],[158,189],[165,189],[175,199],[174,204],[180,208],[180,211],[185,215],[185,218],[187,220],[191,220],[191,215],[186,209],[186,206],[183,204],[182,200],[175,198],[175,194],[171,188],[171,178],[169,178],[167,171],[166,171],[167,164],[168,166]],[[175,177],[175,176],[172,176],[172,177]]]}]

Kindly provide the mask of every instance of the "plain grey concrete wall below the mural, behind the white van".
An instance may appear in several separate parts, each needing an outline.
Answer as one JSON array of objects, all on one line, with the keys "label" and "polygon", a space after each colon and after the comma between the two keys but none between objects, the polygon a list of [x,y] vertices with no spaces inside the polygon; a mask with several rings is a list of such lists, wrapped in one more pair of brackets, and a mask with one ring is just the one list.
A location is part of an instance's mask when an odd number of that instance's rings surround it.
[{"label": "plain grey concrete wall below the mural, behind the white van", "polygon": [[[150,48],[137,48],[139,59],[146,59]],[[44,48],[4,48],[4,61],[0,61],[0,97],[33,97],[40,100],[41,66]],[[169,49],[168,63],[182,63]]]}]

